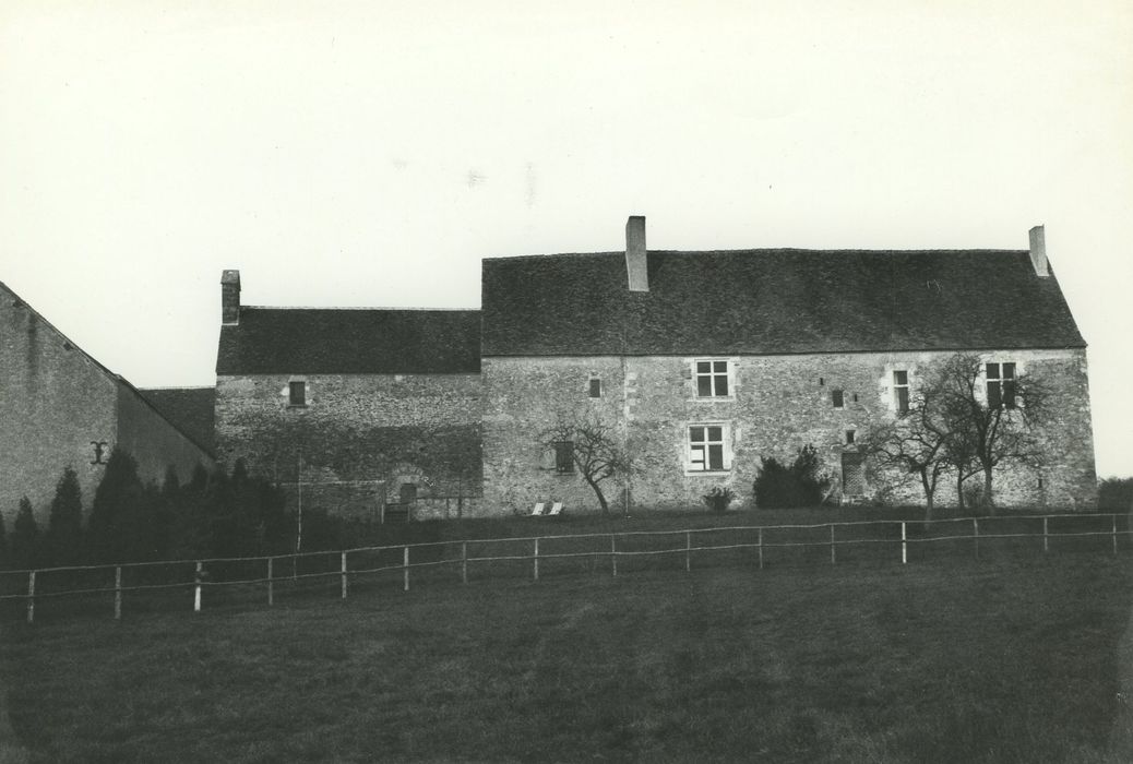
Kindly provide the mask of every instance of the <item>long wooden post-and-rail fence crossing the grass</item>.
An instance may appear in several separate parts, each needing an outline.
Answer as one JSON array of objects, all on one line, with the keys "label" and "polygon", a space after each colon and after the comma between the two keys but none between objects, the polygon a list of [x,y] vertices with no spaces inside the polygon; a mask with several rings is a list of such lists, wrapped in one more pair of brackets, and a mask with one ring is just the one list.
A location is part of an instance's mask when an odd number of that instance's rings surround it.
[{"label": "long wooden post-and-rail fence crossing the grass", "polygon": [[[120,619],[127,594],[142,611],[169,609],[173,594],[185,597],[181,602],[186,609],[191,602],[194,612],[213,600],[220,605],[259,601],[271,606],[283,593],[333,591],[347,600],[351,592],[376,592],[383,587],[408,592],[418,579],[424,584],[468,584],[476,574],[480,578],[534,582],[540,575],[594,574],[602,560],[613,576],[619,575],[620,563],[622,574],[633,569],[666,569],[665,566],[691,571],[698,566],[751,566],[761,570],[772,563],[893,563],[898,559],[901,564],[908,564],[911,555],[926,558],[932,549],[955,557],[957,549],[953,547],[957,545],[960,550],[968,547],[960,553],[980,559],[981,547],[987,554],[996,544],[1020,540],[1034,542],[1033,546],[1024,547],[1028,552],[1041,549],[1048,553],[1059,546],[1066,551],[1097,552],[1099,537],[1106,540],[1107,552],[1117,554],[1119,540],[1131,533],[1125,515],[1010,515],[547,534],[271,557],[67,566],[0,571],[0,614],[16,612],[32,623],[37,603],[45,605],[71,597],[99,600],[95,612],[112,612]],[[913,552],[914,549],[919,551]],[[242,599],[233,592],[240,592]]]}]

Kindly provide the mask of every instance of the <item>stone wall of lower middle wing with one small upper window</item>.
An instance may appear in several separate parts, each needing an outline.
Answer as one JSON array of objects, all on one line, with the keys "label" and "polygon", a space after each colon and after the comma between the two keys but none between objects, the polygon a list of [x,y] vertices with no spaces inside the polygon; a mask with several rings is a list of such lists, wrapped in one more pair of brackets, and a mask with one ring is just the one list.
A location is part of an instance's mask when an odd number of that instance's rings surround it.
[{"label": "stone wall of lower middle wing with one small upper window", "polygon": [[[306,402],[292,406],[299,381]],[[305,508],[376,519],[412,485],[416,516],[442,515],[445,496],[455,511],[480,494],[480,393],[479,374],[220,376],[218,458],[245,459],[292,504],[301,459]]]}]

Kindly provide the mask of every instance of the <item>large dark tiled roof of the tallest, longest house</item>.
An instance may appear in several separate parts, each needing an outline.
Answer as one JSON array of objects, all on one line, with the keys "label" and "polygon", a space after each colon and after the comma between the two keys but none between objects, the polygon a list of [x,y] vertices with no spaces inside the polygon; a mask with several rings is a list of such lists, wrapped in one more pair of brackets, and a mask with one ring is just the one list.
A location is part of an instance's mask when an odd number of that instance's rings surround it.
[{"label": "large dark tiled roof of the tallest, longest house", "polygon": [[1084,347],[1025,251],[623,253],[484,261],[485,356]]}]

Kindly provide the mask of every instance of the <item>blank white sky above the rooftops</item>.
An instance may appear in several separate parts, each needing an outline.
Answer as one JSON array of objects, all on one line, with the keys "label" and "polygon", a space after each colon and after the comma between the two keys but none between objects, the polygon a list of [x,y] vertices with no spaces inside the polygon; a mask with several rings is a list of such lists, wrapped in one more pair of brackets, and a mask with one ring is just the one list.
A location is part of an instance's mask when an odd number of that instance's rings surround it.
[{"label": "blank white sky above the rooftops", "polygon": [[[753,8],[751,6],[755,6]],[[1133,5],[0,3],[0,280],[139,387],[250,305],[477,307],[485,256],[1026,248],[1133,475]]]}]

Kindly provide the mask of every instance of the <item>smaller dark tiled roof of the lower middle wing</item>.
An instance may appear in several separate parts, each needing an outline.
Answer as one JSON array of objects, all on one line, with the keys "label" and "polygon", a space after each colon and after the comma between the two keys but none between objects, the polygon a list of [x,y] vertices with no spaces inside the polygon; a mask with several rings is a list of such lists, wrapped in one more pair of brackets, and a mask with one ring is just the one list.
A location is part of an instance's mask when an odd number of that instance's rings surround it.
[{"label": "smaller dark tiled roof of the lower middle wing", "polygon": [[216,355],[218,374],[479,371],[479,311],[241,307]]}]

